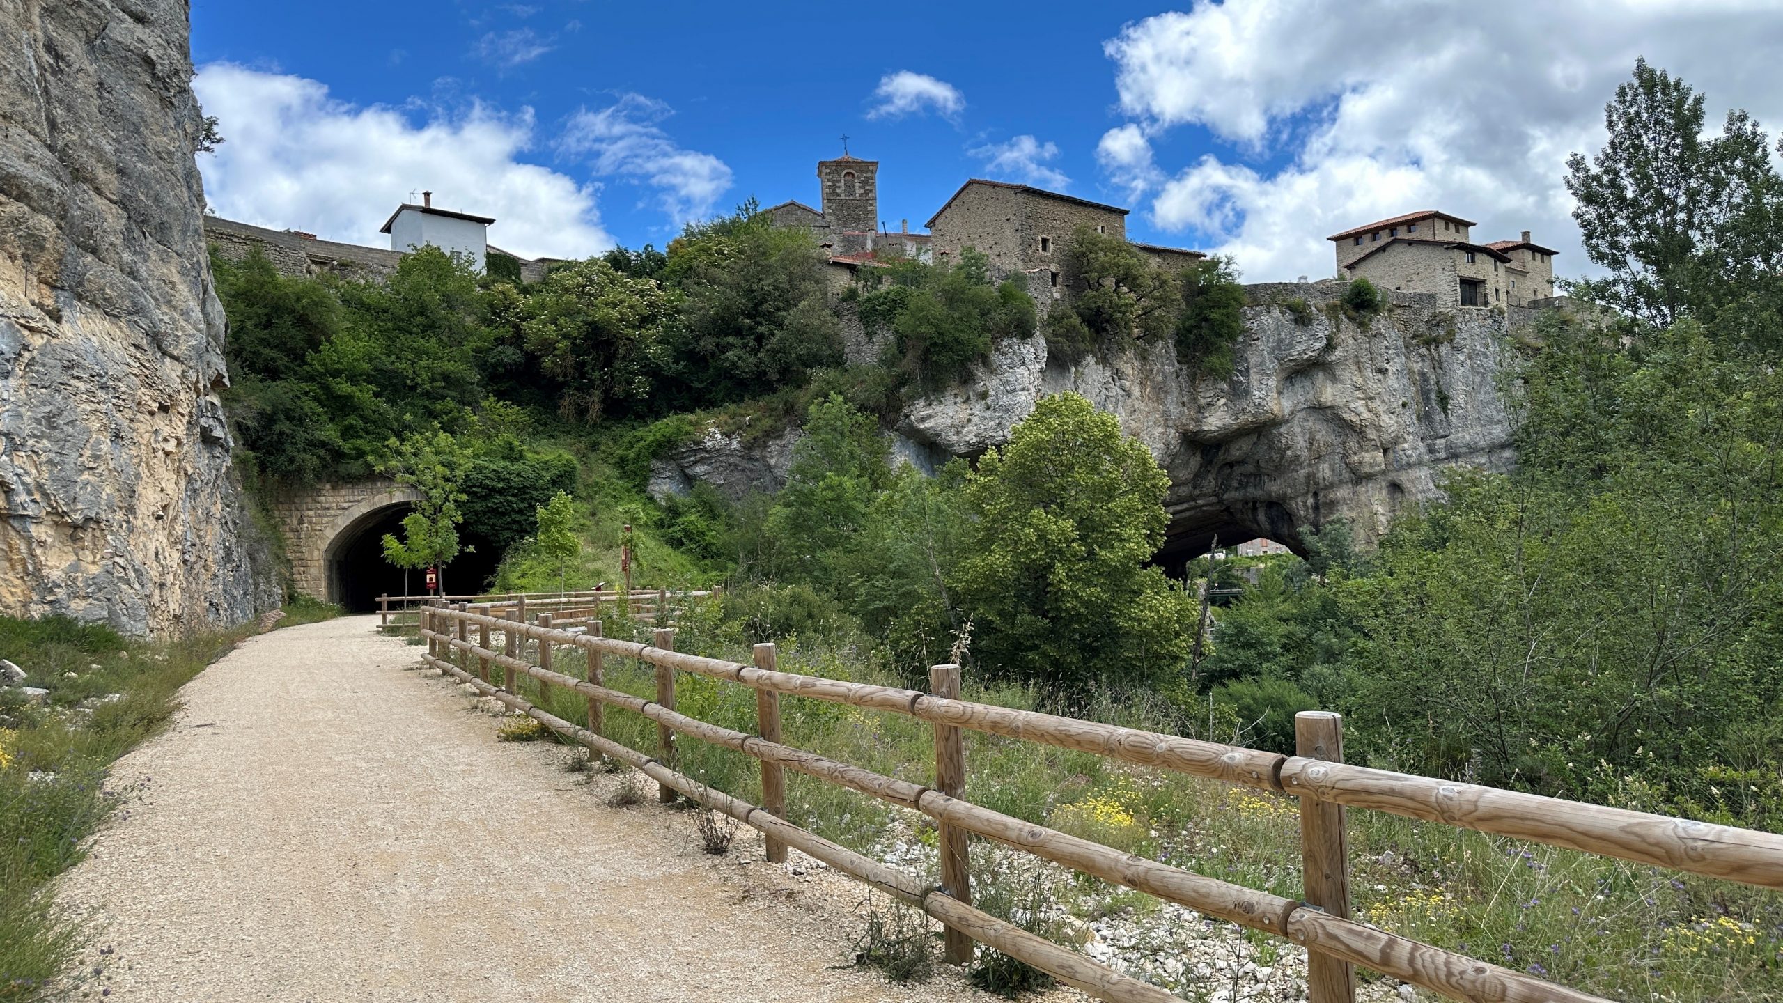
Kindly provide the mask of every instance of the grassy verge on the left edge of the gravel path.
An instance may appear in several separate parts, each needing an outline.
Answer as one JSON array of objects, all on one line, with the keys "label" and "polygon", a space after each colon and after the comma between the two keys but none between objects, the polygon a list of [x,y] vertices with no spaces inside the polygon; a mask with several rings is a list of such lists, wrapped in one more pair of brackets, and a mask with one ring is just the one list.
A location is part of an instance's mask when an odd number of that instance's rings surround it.
[{"label": "grassy verge on the left edge of the gravel path", "polygon": [[43,703],[0,691],[0,999],[39,998],[73,967],[87,930],[55,912],[55,880],[130,794],[107,769],[157,734],[178,689],[250,630],[146,644],[66,618],[0,618],[0,659],[48,691]]}]

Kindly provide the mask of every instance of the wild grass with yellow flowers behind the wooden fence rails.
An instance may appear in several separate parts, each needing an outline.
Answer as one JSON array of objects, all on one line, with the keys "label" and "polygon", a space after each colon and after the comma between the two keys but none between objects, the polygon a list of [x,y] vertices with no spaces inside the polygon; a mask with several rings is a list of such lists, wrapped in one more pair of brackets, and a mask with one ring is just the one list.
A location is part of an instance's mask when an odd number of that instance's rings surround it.
[{"label": "wild grass with yellow flowers behind the wooden fence rails", "polygon": [[[649,626],[617,618],[606,623],[610,635],[635,639],[644,639]],[[679,625],[676,648],[747,662],[747,646],[733,626],[710,609],[695,609]],[[779,664],[792,673],[909,684],[849,639],[786,639]],[[654,669],[619,657],[608,657],[604,667],[608,685],[656,696]],[[560,650],[556,669],[581,676],[581,653]],[[522,689],[553,714],[585,723],[581,696],[540,692],[533,680],[524,680]],[[1043,709],[1023,687],[986,687],[968,678],[965,689],[966,700]],[[754,730],[754,694],[745,687],[679,673],[676,700],[683,714]],[[1082,716],[1170,730],[1164,712],[1143,701],[1104,701]],[[933,782],[934,735],[922,721],[792,696],[781,700],[781,717],[790,744],[915,783]],[[656,751],[656,725],[637,714],[608,709],[606,735]],[[760,800],[756,760],[686,735],[678,757],[678,767],[699,782]],[[979,732],[966,732],[965,758],[966,798],[975,803],[1300,898],[1300,825],[1289,798]],[[911,839],[933,848],[933,826],[922,816],[797,773],[788,773],[788,817],[868,857],[883,858],[888,846]],[[1783,998],[1783,896],[1776,892],[1364,810],[1350,812],[1350,846],[1352,908],[1384,930],[1619,999]],[[933,853],[924,860],[915,869],[927,869],[918,876],[934,882]],[[1161,908],[1141,892],[1050,864],[1038,867],[1048,875],[1047,914],[1020,894],[1031,891],[1029,871],[1011,883],[979,869],[975,885],[991,892],[981,892],[981,899],[995,905],[997,894],[1009,892],[1004,898],[1015,917],[1057,921],[1047,935],[1070,946],[1072,924],[1057,912],[1088,923]],[[1286,949],[1261,933],[1245,941],[1252,958]],[[986,978],[998,987],[1022,982],[1016,969]],[[1364,971],[1362,978],[1380,976]]]}]

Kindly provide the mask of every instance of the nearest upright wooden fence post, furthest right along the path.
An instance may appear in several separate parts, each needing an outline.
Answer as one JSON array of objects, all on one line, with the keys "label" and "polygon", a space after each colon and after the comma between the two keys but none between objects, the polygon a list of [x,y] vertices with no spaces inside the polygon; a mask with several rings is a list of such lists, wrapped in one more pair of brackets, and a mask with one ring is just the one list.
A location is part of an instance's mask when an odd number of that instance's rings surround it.
[{"label": "nearest upright wooden fence post, furthest right along the path", "polygon": [[[1343,762],[1343,716],[1328,710],[1294,714],[1294,751],[1305,758]],[[1300,796],[1302,898],[1330,916],[1350,919],[1350,839],[1344,807]],[[1309,1003],[1355,1003],[1355,967],[1307,951]]]}]

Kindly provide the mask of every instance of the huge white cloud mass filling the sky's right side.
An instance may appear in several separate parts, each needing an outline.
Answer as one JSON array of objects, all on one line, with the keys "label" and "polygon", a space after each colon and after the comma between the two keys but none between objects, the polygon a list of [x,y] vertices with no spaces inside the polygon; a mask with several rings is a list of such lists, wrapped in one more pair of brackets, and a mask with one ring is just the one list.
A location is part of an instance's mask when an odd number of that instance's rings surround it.
[{"label": "huge white cloud mass filling the sky's right side", "polygon": [[[1710,118],[1733,105],[1783,125],[1771,75],[1728,59],[1735,37],[1769,52],[1783,18],[1756,0],[1580,0],[1483,21],[1434,2],[1198,0],[1104,45],[1130,121],[1097,157],[1150,195],[1154,223],[1196,230],[1253,280],[1328,275],[1327,234],[1412,209],[1478,220],[1483,239],[1533,230],[1578,273],[1564,159],[1601,143],[1603,102],[1637,55],[1706,91]],[[1173,130],[1216,152],[1159,166]]]}]

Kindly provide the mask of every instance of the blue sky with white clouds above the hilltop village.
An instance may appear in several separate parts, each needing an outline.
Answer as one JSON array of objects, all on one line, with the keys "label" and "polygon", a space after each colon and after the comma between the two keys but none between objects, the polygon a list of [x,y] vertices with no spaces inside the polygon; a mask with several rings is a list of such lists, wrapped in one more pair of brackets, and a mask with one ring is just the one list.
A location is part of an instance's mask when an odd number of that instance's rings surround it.
[{"label": "blue sky with white clouds above the hilltop village", "polygon": [[1635,55],[1706,89],[1712,118],[1783,112],[1765,7],[193,0],[196,89],[228,139],[200,166],[212,207],[251,223],[380,243],[431,187],[497,216],[496,245],[579,255],[660,246],[751,195],[815,203],[845,132],[881,161],[893,228],[995,177],[1130,205],[1132,237],[1232,253],[1252,280],[1325,275],[1325,234],[1426,207],[1565,255],[1562,159],[1596,145]]}]

